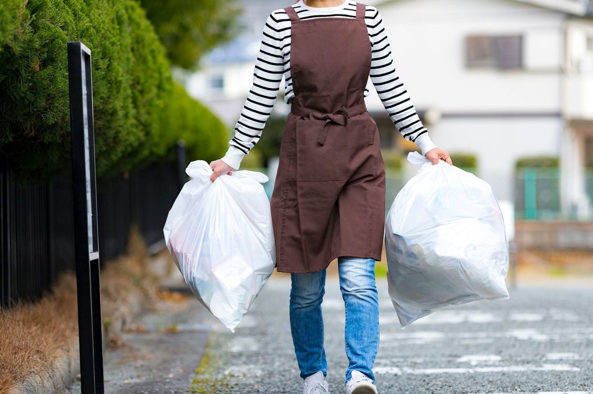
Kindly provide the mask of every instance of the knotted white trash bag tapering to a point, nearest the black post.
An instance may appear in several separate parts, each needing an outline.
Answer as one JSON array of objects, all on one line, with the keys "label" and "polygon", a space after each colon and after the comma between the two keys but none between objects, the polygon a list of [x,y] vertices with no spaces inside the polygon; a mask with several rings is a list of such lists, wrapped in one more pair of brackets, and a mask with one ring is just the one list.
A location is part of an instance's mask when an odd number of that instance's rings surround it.
[{"label": "knotted white trash bag tapering to a point, nearest the black post", "polygon": [[163,232],[165,243],[195,296],[225,327],[247,314],[276,265],[270,202],[250,170],[214,182],[204,160],[187,166],[192,177],[177,196]]}]

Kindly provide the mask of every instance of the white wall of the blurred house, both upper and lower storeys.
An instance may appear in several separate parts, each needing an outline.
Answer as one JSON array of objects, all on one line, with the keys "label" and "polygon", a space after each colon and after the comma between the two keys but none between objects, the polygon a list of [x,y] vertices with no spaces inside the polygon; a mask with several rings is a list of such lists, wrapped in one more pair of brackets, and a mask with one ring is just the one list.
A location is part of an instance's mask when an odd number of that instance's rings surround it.
[{"label": "white wall of the blurred house, both upper and lower storeys", "polygon": [[[561,151],[566,15],[500,0],[405,0],[377,8],[416,108],[444,115],[427,124],[432,140],[451,153],[476,154],[477,175],[497,198],[512,200],[517,159]],[[522,35],[524,69],[466,67],[467,35],[505,34]],[[376,95],[367,104],[382,108]]]}]

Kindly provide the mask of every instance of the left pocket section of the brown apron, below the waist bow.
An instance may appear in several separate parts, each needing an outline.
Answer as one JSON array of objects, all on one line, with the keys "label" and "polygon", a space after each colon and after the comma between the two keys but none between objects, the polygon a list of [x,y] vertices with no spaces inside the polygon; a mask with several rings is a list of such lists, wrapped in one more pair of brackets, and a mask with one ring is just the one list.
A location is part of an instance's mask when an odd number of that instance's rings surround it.
[{"label": "left pocket section of the brown apron, below the waist bow", "polygon": [[[325,124],[325,120],[299,119],[295,122],[297,181],[334,180],[332,159],[335,138],[331,129],[335,125]],[[322,131],[327,132],[323,145],[317,142]]]}]

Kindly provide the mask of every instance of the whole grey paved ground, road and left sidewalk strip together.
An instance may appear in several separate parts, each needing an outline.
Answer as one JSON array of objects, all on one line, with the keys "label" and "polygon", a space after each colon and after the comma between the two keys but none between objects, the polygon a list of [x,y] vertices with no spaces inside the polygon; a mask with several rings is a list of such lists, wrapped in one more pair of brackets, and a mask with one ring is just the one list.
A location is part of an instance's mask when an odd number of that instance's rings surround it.
[{"label": "whole grey paved ground, road and left sidewalk strip together", "polygon": [[[593,286],[522,286],[511,298],[449,306],[400,328],[384,279],[381,394],[593,394]],[[230,332],[193,297],[180,311],[144,315],[105,356],[107,394],[302,393],[288,320],[290,280],[275,274]],[[347,367],[337,277],[323,301],[331,393]],[[71,387],[80,393],[79,383]]]}]

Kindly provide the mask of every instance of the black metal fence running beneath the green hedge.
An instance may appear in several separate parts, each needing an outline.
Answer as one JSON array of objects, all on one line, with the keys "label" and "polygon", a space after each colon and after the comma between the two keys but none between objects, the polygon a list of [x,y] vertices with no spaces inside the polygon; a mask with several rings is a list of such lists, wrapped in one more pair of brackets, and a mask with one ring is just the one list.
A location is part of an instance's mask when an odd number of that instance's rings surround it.
[{"label": "black metal fence running beneath the green hedge", "polygon": [[[125,251],[132,224],[149,245],[162,242],[167,213],[180,190],[180,167],[153,163],[97,184],[101,261]],[[0,259],[3,306],[40,298],[60,273],[74,270],[71,175],[21,186],[0,157]]]}]

